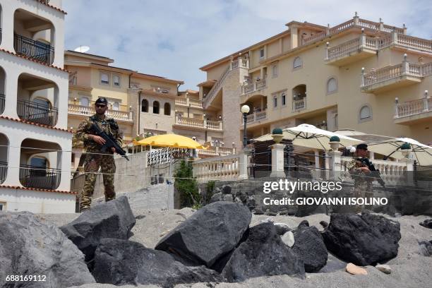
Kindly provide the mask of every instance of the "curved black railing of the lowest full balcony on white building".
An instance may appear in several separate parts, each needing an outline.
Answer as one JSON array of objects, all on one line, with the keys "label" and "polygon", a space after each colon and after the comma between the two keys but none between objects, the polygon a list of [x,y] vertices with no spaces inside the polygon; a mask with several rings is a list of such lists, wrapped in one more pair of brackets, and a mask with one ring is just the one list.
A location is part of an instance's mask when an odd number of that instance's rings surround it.
[{"label": "curved black railing of the lowest full balcony on white building", "polygon": [[59,187],[61,171],[32,165],[20,165],[20,182],[25,187],[55,190]]}]

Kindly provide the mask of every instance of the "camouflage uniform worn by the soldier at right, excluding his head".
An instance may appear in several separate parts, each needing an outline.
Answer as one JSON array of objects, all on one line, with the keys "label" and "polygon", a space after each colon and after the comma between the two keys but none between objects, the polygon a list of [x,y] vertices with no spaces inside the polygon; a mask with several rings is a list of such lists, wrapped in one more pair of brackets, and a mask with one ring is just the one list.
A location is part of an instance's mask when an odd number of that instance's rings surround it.
[{"label": "camouflage uniform worn by the soldier at right, excluding his head", "polygon": [[[361,164],[356,159],[353,159],[349,162],[347,169],[349,170],[349,174],[351,174],[352,179],[354,180],[354,197],[355,198],[370,198],[373,196],[372,193],[372,182],[373,178],[368,176],[368,173],[365,173],[361,170]],[[361,205],[356,205],[356,213],[361,212]]]}]

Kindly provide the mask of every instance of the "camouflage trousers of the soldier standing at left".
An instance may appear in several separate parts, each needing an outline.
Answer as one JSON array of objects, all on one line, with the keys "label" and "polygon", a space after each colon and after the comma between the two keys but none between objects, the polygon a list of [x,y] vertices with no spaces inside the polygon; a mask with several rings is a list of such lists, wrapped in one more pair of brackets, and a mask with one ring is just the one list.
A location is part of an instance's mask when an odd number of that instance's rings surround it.
[{"label": "camouflage trousers of the soldier standing at left", "polygon": [[81,193],[80,210],[90,208],[97,176],[95,172],[97,172],[99,168],[104,179],[105,201],[116,198],[116,193],[114,191],[114,173],[116,172],[114,155],[88,154],[85,156],[84,161],[85,183]]}]

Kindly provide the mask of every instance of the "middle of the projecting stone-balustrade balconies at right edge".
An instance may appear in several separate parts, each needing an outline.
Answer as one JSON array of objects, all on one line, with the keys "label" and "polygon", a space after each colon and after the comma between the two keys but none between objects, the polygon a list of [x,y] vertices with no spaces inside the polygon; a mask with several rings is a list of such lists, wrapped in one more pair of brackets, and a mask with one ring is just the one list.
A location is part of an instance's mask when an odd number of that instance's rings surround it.
[{"label": "middle of the projecting stone-balustrade balconies at right edge", "polygon": [[407,85],[420,83],[425,76],[432,75],[432,62],[412,64],[407,62],[406,54],[402,64],[376,69],[369,73],[361,73],[361,92],[383,92]]}]

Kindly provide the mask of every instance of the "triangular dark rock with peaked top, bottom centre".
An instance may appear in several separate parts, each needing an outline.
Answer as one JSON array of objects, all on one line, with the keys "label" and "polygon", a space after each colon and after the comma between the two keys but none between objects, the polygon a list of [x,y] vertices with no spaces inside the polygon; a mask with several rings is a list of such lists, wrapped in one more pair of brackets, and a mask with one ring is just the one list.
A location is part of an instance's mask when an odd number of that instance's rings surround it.
[{"label": "triangular dark rock with peaked top, bottom centre", "polygon": [[304,277],[304,263],[277,235],[272,222],[263,222],[249,230],[248,239],[232,253],[222,270],[228,282],[251,277],[292,275]]}]

